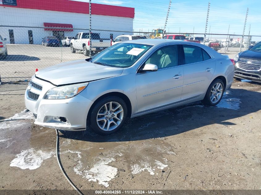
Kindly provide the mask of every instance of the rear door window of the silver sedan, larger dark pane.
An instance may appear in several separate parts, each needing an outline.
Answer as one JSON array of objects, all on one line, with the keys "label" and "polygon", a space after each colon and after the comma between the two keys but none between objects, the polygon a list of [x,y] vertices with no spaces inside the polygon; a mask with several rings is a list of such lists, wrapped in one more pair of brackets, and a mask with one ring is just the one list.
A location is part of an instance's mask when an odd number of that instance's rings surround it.
[{"label": "rear door window of the silver sedan, larger dark pane", "polygon": [[202,50],[200,47],[193,45],[183,45],[185,64],[203,61]]}]

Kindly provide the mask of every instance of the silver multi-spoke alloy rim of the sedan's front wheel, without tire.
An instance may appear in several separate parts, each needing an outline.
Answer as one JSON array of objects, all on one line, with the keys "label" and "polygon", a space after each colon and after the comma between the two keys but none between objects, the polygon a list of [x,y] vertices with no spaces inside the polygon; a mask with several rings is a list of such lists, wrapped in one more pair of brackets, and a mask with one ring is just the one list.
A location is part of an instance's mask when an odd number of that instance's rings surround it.
[{"label": "silver multi-spoke alloy rim of the sedan's front wheel, without tire", "polygon": [[112,131],[120,125],[123,116],[123,108],[118,102],[108,102],[99,109],[96,121],[101,130]]}]

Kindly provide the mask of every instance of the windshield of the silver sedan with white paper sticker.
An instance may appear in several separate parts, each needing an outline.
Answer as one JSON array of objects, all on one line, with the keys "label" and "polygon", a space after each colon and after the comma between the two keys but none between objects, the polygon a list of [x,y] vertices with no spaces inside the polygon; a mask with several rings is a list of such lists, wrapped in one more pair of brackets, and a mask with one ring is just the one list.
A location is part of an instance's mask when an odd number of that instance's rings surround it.
[{"label": "windshield of the silver sedan with white paper sticker", "polygon": [[104,66],[127,68],[132,66],[152,45],[136,43],[117,43],[99,54],[89,62]]}]

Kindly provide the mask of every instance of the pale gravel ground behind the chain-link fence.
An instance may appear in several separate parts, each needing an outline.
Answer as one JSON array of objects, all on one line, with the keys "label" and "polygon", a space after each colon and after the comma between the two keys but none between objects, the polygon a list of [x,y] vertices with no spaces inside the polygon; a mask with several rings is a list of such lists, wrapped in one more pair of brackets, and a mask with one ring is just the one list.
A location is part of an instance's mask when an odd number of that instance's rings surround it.
[{"label": "pale gravel ground behind the chain-link fence", "polygon": [[[77,59],[86,59],[82,51],[71,53],[70,47],[46,47],[43,45],[19,45],[8,44],[8,57],[0,59],[0,75],[2,82],[14,82],[30,79],[35,69],[42,69],[55,64],[68,62]],[[224,48],[219,52],[234,58],[239,48],[230,48],[231,51],[225,53]],[[6,78],[20,77],[20,78]],[[26,78],[23,78],[26,77]]]}]

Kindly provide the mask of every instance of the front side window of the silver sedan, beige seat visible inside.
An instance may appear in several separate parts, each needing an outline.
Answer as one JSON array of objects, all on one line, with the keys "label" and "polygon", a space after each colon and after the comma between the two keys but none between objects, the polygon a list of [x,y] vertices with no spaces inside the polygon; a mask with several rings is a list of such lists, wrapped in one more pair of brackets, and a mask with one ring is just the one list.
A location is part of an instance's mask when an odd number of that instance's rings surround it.
[{"label": "front side window of the silver sedan, beige seat visible inside", "polygon": [[156,50],[145,64],[155,64],[158,69],[178,66],[178,45],[168,45]]}]

